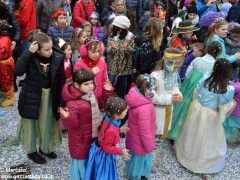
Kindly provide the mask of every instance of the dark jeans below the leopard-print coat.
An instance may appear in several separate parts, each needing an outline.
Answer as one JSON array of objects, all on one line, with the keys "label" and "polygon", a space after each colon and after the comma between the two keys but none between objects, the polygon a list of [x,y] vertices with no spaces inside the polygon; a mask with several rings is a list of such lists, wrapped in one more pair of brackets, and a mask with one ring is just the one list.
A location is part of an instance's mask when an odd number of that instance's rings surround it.
[{"label": "dark jeans below the leopard-print coat", "polygon": [[119,97],[124,99],[124,96],[127,94],[127,85],[128,85],[127,75],[116,76],[113,74],[108,74],[108,79],[111,82],[111,84],[114,87],[116,87]]}]

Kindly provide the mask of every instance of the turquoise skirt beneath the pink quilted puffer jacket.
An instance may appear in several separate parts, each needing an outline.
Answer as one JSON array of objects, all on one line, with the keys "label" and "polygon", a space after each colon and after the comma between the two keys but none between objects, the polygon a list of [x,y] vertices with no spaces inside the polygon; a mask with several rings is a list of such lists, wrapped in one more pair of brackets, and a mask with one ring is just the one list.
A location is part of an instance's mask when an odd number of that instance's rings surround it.
[{"label": "turquoise skirt beneath the pink quilted puffer jacket", "polygon": [[139,180],[141,176],[149,177],[152,170],[152,155],[149,153],[143,156],[129,152],[131,159],[127,162],[127,176],[131,180]]}]

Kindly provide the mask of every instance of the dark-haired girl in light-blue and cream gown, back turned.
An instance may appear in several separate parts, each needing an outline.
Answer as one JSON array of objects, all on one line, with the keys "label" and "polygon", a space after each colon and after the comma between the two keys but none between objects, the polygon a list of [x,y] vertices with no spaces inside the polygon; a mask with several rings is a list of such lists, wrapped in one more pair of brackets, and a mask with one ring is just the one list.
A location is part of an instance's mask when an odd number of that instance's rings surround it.
[{"label": "dark-haired girl in light-blue and cream gown, back turned", "polygon": [[217,173],[225,165],[227,145],[222,123],[234,108],[230,76],[230,62],[219,59],[195,90],[182,132],[175,141],[177,160],[192,172]]}]

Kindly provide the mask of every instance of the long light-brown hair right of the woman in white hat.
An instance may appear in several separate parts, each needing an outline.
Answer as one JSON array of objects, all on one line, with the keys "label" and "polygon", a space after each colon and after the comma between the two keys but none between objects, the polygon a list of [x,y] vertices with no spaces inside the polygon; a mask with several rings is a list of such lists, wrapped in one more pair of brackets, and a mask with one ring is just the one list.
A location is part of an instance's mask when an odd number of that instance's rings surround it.
[{"label": "long light-brown hair right of the woman in white hat", "polygon": [[163,38],[163,24],[161,19],[150,19],[145,27],[145,33],[152,41],[153,50],[158,52]]}]

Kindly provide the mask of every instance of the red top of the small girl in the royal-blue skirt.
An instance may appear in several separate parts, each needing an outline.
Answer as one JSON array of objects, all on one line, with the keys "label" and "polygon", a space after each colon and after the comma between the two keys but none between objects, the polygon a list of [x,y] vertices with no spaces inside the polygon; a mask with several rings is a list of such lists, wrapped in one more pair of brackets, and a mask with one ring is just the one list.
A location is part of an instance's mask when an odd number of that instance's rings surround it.
[{"label": "red top of the small girl in the royal-blue skirt", "polygon": [[[98,135],[98,142],[101,148],[108,154],[120,155],[122,153],[122,148],[117,147],[116,144],[120,143],[120,129],[114,125],[110,125],[107,131],[104,133],[108,122],[104,119],[101,127],[101,131]],[[104,139],[101,141],[101,137]]]}]

